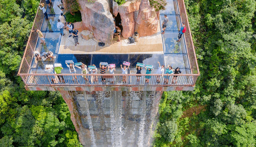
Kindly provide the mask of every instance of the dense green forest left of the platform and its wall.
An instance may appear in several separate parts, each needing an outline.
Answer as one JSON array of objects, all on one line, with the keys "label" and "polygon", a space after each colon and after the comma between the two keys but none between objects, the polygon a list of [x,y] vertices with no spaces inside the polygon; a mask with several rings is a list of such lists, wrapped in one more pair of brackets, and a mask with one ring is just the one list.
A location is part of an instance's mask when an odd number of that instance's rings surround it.
[{"label": "dense green forest left of the platform and its wall", "polygon": [[60,93],[26,91],[16,76],[38,4],[0,0],[0,147],[81,147]]}]

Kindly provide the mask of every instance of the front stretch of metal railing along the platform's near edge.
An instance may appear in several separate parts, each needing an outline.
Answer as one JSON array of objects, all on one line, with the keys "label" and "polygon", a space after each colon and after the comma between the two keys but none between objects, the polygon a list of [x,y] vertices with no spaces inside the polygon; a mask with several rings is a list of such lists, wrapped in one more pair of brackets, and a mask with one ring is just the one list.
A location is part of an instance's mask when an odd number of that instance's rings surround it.
[{"label": "front stretch of metal railing along the platform's near edge", "polygon": [[[27,86],[194,86],[197,76],[194,74],[20,74],[27,77]],[[25,79],[23,77],[22,79]],[[148,79],[148,82],[146,82]]]}]

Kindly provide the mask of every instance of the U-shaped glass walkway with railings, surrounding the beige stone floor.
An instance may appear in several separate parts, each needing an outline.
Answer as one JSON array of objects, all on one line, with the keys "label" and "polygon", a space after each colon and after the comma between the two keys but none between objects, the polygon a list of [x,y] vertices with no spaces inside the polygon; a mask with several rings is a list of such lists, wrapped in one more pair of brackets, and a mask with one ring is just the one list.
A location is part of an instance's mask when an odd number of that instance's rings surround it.
[{"label": "U-shaped glass walkway with railings, surrounding the beige stone floor", "polygon": [[[45,3],[45,0],[41,0],[40,3]],[[193,41],[191,31],[189,28],[188,18],[185,11],[185,4],[183,0],[167,0],[166,10],[160,12],[160,24],[164,19],[164,14],[169,17],[169,23],[166,27],[165,34],[161,35],[163,51],[162,52],[147,52],[147,53],[106,53],[99,54],[96,52],[88,53],[63,53],[60,52],[60,46],[63,44],[63,36],[60,35],[60,31],[57,29],[57,19],[60,16],[60,8],[57,5],[60,4],[57,0],[52,0],[53,7],[47,8],[47,14],[49,20],[44,19],[44,14],[39,9],[33,24],[32,29],[39,29],[44,34],[46,45],[40,44],[38,34],[30,33],[28,43],[25,49],[22,63],[19,68],[18,75],[22,77],[23,82],[27,90],[193,90],[196,79],[200,75],[199,68],[196,61],[196,54],[193,47]],[[182,35],[181,41],[176,42],[178,36],[178,29],[181,27],[181,22],[185,22],[187,32]],[[161,26],[160,26],[161,27]],[[68,36],[68,33],[66,36]],[[161,32],[160,32],[161,33]],[[66,37],[65,36],[65,37]],[[79,38],[80,39],[80,38]],[[81,39],[80,39],[81,40]],[[77,47],[77,46],[76,46]],[[33,55],[34,51],[40,53],[51,51],[54,53],[52,60],[45,60],[44,65],[61,63],[63,66],[62,74],[47,73],[44,67],[38,66],[37,61]],[[100,59],[100,60],[99,60]],[[95,64],[98,68],[99,63],[108,62],[116,64],[116,71],[114,76],[105,74],[106,83],[101,82],[101,74],[92,75],[87,74],[89,81],[85,81],[82,78],[81,70],[76,68],[76,74],[70,74],[68,68],[65,65],[65,60],[73,60],[74,63],[82,62],[85,65]],[[120,65],[123,61],[131,63],[128,71],[127,82],[123,83],[123,76],[121,73]],[[154,65],[155,73],[158,68],[159,61],[161,65],[172,65],[173,68],[180,67],[182,74],[172,75],[169,77],[169,83],[164,84],[164,77],[160,77],[160,83],[156,83],[158,75],[151,74],[149,83],[145,83],[146,70],[142,70],[142,77],[140,82],[136,82],[136,63],[144,63],[145,65]],[[108,72],[106,72],[108,73]],[[76,80],[72,80],[74,75],[77,76]],[[63,76],[65,82],[53,82],[52,79],[57,76]],[[91,82],[92,76],[97,76],[98,82]],[[177,76],[177,80],[172,83],[174,76]],[[113,80],[113,84],[111,81]]]}]

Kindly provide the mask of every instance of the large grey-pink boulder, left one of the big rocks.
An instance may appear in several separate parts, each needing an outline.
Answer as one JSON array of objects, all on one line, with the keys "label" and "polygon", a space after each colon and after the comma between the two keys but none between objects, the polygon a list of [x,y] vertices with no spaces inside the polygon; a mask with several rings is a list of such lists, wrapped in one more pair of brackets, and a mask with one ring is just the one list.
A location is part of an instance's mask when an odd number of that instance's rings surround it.
[{"label": "large grey-pink boulder, left one of the big rocks", "polygon": [[87,0],[78,0],[81,6],[82,24],[86,30],[93,32],[98,41],[112,43],[114,19],[109,12],[106,0],[97,0],[94,3]]}]

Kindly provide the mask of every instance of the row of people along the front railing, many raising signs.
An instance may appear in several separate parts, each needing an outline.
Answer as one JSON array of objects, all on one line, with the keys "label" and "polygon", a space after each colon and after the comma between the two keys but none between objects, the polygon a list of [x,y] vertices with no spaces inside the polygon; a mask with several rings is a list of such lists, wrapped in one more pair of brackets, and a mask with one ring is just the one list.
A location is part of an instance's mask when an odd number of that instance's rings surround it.
[{"label": "row of people along the front railing, many raising signs", "polygon": [[[40,54],[38,51],[34,52],[34,56],[35,59],[37,60],[37,65],[38,67],[40,67],[41,69],[44,69],[47,73],[56,73],[56,74],[61,74],[63,67],[60,63],[57,64],[44,64],[44,62],[50,60],[54,60],[54,56],[52,52],[44,52],[43,54]],[[96,68],[96,66],[93,64],[92,66],[89,66],[87,68],[87,65],[81,63],[81,65],[76,65],[73,62],[72,63],[65,63],[69,73],[71,73],[71,77],[72,80],[75,82],[75,80],[77,81],[77,76],[75,75],[75,73],[77,73],[76,68],[80,69],[81,72],[79,72],[79,74],[97,74],[98,73],[98,69]],[[99,65],[99,73],[100,74],[106,74],[108,72],[108,74],[114,74],[114,71],[116,71],[115,65]],[[161,81],[161,77],[163,77],[163,84],[168,84],[170,77],[172,77],[172,84],[176,84],[177,83],[177,76],[171,76],[171,74],[180,74],[182,73],[180,71],[180,68],[176,68],[175,70],[172,69],[172,66],[167,66],[166,70],[164,69],[164,65],[161,65],[160,62],[158,62],[158,70],[156,71],[155,74],[159,74],[156,76],[156,78],[154,78],[153,80],[155,81],[155,84],[160,84]],[[54,67],[55,66],[55,67]],[[76,67],[76,68],[75,68]],[[128,74],[128,70],[129,70],[128,65],[120,65],[120,68],[122,69],[122,74]],[[142,69],[143,67],[141,67],[140,65],[136,65],[136,74],[142,74]],[[153,71],[152,67],[145,67],[146,69],[146,75],[145,78],[145,84],[149,84],[150,83],[150,79],[151,79],[151,72]],[[79,71],[80,71],[79,70]],[[165,72],[164,72],[165,71]],[[163,76],[163,74],[167,74],[165,76]],[[65,78],[62,75],[58,75],[58,76],[50,76],[51,80],[53,83],[65,83]],[[107,81],[106,79],[108,79],[109,84],[114,84],[114,82],[116,82],[116,77],[115,76],[101,76],[101,83],[102,84],[106,84]],[[98,83],[98,75],[96,76],[87,76],[87,75],[83,75],[82,79],[84,79],[85,82],[90,82],[90,84],[94,84],[94,83]],[[139,84],[140,81],[142,79],[142,76],[140,75],[136,75],[136,84]],[[80,78],[81,80],[81,78]],[[123,84],[127,84],[127,76],[123,76],[122,78],[122,82]]]}]

